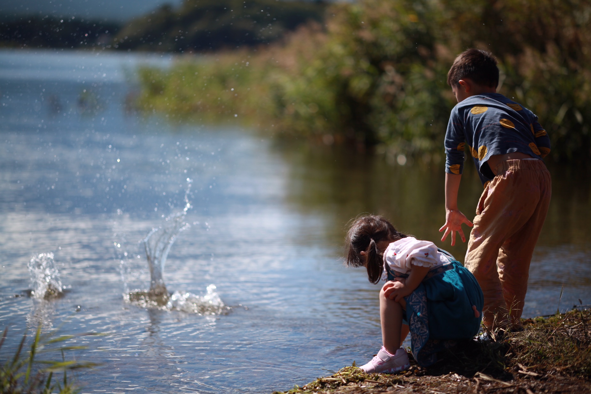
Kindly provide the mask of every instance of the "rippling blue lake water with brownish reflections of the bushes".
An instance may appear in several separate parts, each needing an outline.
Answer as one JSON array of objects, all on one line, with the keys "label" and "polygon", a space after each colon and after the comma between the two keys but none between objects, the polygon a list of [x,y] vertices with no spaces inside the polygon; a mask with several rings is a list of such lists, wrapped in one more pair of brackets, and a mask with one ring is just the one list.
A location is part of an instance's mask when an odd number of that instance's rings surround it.
[{"label": "rippling blue lake water with brownish reflections of the bushes", "polygon": [[[342,149],[278,144],[238,127],[144,116],[129,105],[139,64],[160,56],[0,51],[0,328],[93,331],[77,359],[84,393],[265,393],[303,385],[379,349],[379,286],[343,267],[346,223],[362,212],[438,242],[442,163],[389,165]],[[443,131],[442,131],[443,132]],[[460,209],[482,185],[466,171]],[[532,260],[524,317],[591,304],[586,174],[551,167],[553,200]],[[215,284],[227,314],[140,308],[140,241],[184,206],[164,270],[169,291]],[[27,296],[28,262],[54,253],[64,297]],[[123,275],[122,275],[123,272]],[[562,291],[562,296],[560,294]],[[560,300],[560,301],[559,301]],[[0,358],[9,357],[2,349]]]}]

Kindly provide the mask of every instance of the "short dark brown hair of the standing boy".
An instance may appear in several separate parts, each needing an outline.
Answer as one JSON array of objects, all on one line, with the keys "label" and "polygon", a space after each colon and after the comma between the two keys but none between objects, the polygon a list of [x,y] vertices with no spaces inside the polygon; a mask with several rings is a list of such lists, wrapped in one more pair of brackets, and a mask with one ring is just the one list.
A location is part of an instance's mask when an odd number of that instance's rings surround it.
[{"label": "short dark brown hair of the standing boy", "polygon": [[496,87],[499,84],[496,57],[488,51],[476,48],[460,53],[447,73],[447,84],[457,87],[458,81],[465,78],[482,86]]}]

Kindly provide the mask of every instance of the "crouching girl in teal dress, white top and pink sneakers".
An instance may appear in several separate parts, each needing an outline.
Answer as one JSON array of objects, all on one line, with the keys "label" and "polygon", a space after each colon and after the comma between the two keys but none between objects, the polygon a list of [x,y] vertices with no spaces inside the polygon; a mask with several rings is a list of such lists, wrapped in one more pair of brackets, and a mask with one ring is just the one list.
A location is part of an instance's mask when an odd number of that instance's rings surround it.
[{"label": "crouching girl in teal dress, white top and pink sneakers", "polygon": [[382,349],[361,367],[367,373],[394,373],[410,367],[401,344],[411,333],[420,366],[455,341],[478,334],[482,290],[462,263],[433,242],[399,233],[382,216],[355,220],[346,237],[346,264],[364,266],[369,281],[387,281],[379,292]]}]

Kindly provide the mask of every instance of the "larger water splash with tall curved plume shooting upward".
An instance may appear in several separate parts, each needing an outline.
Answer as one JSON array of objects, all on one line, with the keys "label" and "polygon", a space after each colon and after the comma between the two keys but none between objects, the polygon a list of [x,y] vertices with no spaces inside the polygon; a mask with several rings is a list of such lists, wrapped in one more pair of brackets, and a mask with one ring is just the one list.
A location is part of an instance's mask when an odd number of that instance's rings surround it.
[{"label": "larger water splash with tall curved plume shooting upward", "polygon": [[[185,222],[187,211],[191,208],[189,202],[191,183],[192,180],[187,178],[183,211],[170,214],[165,219],[163,226],[152,229],[142,240],[150,269],[150,289],[148,291],[140,289],[126,291],[124,298],[127,302],[142,308],[176,310],[199,315],[222,314],[230,310],[214,291],[216,286],[213,284],[207,286],[206,295],[200,296],[186,291],[175,291],[170,294],[164,283],[164,266],[168,252],[170,252],[178,234],[191,227],[189,223]],[[124,260],[122,260],[123,263]]]}]

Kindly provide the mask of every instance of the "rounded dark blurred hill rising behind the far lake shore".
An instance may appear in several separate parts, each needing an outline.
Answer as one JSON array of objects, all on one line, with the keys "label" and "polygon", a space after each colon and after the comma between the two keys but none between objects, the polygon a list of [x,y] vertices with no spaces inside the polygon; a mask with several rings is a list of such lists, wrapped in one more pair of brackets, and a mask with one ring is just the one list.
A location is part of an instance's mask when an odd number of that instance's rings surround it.
[{"label": "rounded dark blurred hill rising behind the far lake shore", "polygon": [[269,43],[309,20],[322,21],[323,1],[185,0],[130,22],[116,48],[145,51],[210,51]]}]

